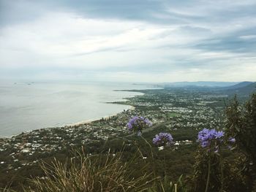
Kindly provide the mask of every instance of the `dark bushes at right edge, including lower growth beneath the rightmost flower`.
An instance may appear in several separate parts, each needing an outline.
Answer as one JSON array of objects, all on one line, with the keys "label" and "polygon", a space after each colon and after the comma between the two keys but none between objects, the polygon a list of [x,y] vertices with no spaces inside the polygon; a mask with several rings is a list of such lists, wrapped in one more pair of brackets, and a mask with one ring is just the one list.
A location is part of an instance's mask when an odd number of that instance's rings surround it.
[{"label": "dark bushes at right edge, including lower growth beneath the rightmost flower", "polygon": [[[235,97],[226,115],[226,142],[215,139],[212,146],[206,142],[207,150],[205,143],[198,148],[191,191],[256,191],[256,94],[245,105]],[[227,147],[238,156],[225,158]]]}]

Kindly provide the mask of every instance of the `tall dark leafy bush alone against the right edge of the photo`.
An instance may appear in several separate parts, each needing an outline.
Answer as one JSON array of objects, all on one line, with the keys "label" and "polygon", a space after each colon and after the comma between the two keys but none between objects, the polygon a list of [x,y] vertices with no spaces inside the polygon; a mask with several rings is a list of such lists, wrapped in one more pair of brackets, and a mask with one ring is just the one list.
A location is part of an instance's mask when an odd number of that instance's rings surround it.
[{"label": "tall dark leafy bush alone against the right edge of the photo", "polygon": [[226,114],[228,134],[236,138],[238,150],[245,156],[242,174],[251,190],[256,191],[256,93],[243,106],[235,97]]}]

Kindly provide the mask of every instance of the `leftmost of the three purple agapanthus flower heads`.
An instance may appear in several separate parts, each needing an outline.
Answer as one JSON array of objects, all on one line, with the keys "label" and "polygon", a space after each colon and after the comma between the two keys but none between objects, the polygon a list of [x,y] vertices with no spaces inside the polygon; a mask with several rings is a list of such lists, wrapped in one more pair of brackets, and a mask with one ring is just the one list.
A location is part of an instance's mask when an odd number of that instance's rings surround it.
[{"label": "leftmost of the three purple agapanthus flower heads", "polygon": [[143,128],[152,126],[152,123],[142,116],[135,116],[129,120],[127,127],[129,131],[138,131],[138,135],[142,133]]}]

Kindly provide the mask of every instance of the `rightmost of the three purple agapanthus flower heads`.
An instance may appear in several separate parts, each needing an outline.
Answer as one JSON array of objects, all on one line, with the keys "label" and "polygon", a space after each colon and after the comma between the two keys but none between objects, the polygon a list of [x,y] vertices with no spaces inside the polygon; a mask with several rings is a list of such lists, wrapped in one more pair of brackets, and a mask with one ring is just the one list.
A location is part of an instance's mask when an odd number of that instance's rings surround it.
[{"label": "rightmost of the three purple agapanthus flower heads", "polygon": [[219,144],[222,142],[222,137],[224,137],[223,131],[217,131],[215,129],[203,128],[202,131],[198,133],[198,141],[202,147],[214,147],[215,152],[219,150]]}]

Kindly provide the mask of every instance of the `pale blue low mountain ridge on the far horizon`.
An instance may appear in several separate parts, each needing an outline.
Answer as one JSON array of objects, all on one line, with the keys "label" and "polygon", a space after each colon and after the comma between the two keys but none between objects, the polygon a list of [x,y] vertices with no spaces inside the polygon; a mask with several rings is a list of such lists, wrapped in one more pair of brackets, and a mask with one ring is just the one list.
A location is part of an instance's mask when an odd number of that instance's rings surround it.
[{"label": "pale blue low mountain ridge on the far horizon", "polygon": [[222,88],[236,85],[238,82],[216,82],[216,81],[197,81],[197,82],[166,82],[162,84],[164,87],[209,87]]}]

